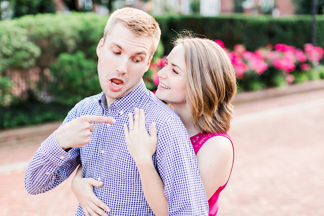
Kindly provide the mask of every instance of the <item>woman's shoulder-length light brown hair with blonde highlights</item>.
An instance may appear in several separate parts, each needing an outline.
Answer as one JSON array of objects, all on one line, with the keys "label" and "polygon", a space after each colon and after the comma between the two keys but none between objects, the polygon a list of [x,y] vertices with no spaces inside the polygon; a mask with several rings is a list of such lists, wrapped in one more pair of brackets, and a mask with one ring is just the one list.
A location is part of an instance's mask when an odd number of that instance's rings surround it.
[{"label": "woman's shoulder-length light brown hair with blonde highlights", "polygon": [[213,40],[180,36],[188,71],[186,100],[199,132],[226,133],[233,117],[236,76],[227,53]]}]

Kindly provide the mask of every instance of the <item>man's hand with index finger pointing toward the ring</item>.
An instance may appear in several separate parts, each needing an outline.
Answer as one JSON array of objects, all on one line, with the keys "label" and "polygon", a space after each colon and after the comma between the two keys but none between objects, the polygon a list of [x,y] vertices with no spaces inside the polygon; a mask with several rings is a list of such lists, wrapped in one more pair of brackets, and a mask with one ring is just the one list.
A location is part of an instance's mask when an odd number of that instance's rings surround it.
[{"label": "man's hand with index finger pointing toward the ring", "polygon": [[115,123],[116,120],[95,115],[77,117],[57,129],[55,132],[56,141],[64,150],[87,145],[91,141],[91,133],[95,130],[92,122]]}]

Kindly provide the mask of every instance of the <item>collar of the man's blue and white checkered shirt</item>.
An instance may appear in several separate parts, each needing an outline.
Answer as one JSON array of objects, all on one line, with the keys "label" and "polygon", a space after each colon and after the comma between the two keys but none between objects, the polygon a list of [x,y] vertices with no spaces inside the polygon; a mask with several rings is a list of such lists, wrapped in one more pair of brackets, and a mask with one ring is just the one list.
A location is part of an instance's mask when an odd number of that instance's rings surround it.
[{"label": "collar of the man's blue and white checkered shirt", "polygon": [[[140,98],[142,98],[146,91],[147,89],[144,80],[141,79],[139,85],[132,92],[130,92],[123,98],[116,99],[108,109],[118,111],[126,110],[129,107],[132,107]],[[107,107],[106,96],[104,92],[102,92],[99,96],[98,103],[103,109]]]}]

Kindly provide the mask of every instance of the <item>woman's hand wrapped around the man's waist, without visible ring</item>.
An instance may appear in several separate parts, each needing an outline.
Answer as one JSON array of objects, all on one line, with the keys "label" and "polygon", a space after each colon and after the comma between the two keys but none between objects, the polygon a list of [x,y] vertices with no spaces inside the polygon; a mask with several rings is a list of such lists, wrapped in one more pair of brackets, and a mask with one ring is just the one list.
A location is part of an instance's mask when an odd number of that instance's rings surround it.
[{"label": "woman's hand wrapped around the man's waist, without visible ring", "polygon": [[[105,211],[110,212],[110,208],[93,192],[93,187],[101,186],[103,186],[103,182],[91,178],[83,178],[82,166],[79,166],[72,180],[71,188],[86,216],[108,216]],[[105,209],[105,211],[102,209]]]}]

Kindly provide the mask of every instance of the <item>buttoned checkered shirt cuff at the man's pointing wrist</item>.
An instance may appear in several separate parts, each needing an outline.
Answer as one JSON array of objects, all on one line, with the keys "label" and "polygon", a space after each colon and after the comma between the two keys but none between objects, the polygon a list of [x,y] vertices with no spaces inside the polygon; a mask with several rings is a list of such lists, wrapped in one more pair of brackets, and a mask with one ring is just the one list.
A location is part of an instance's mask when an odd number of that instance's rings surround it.
[{"label": "buttoned checkered shirt cuff at the man's pointing wrist", "polygon": [[62,147],[58,144],[55,137],[55,132],[51,134],[43,143],[44,155],[52,163],[61,166],[66,161],[68,161],[70,153],[64,151]]}]

